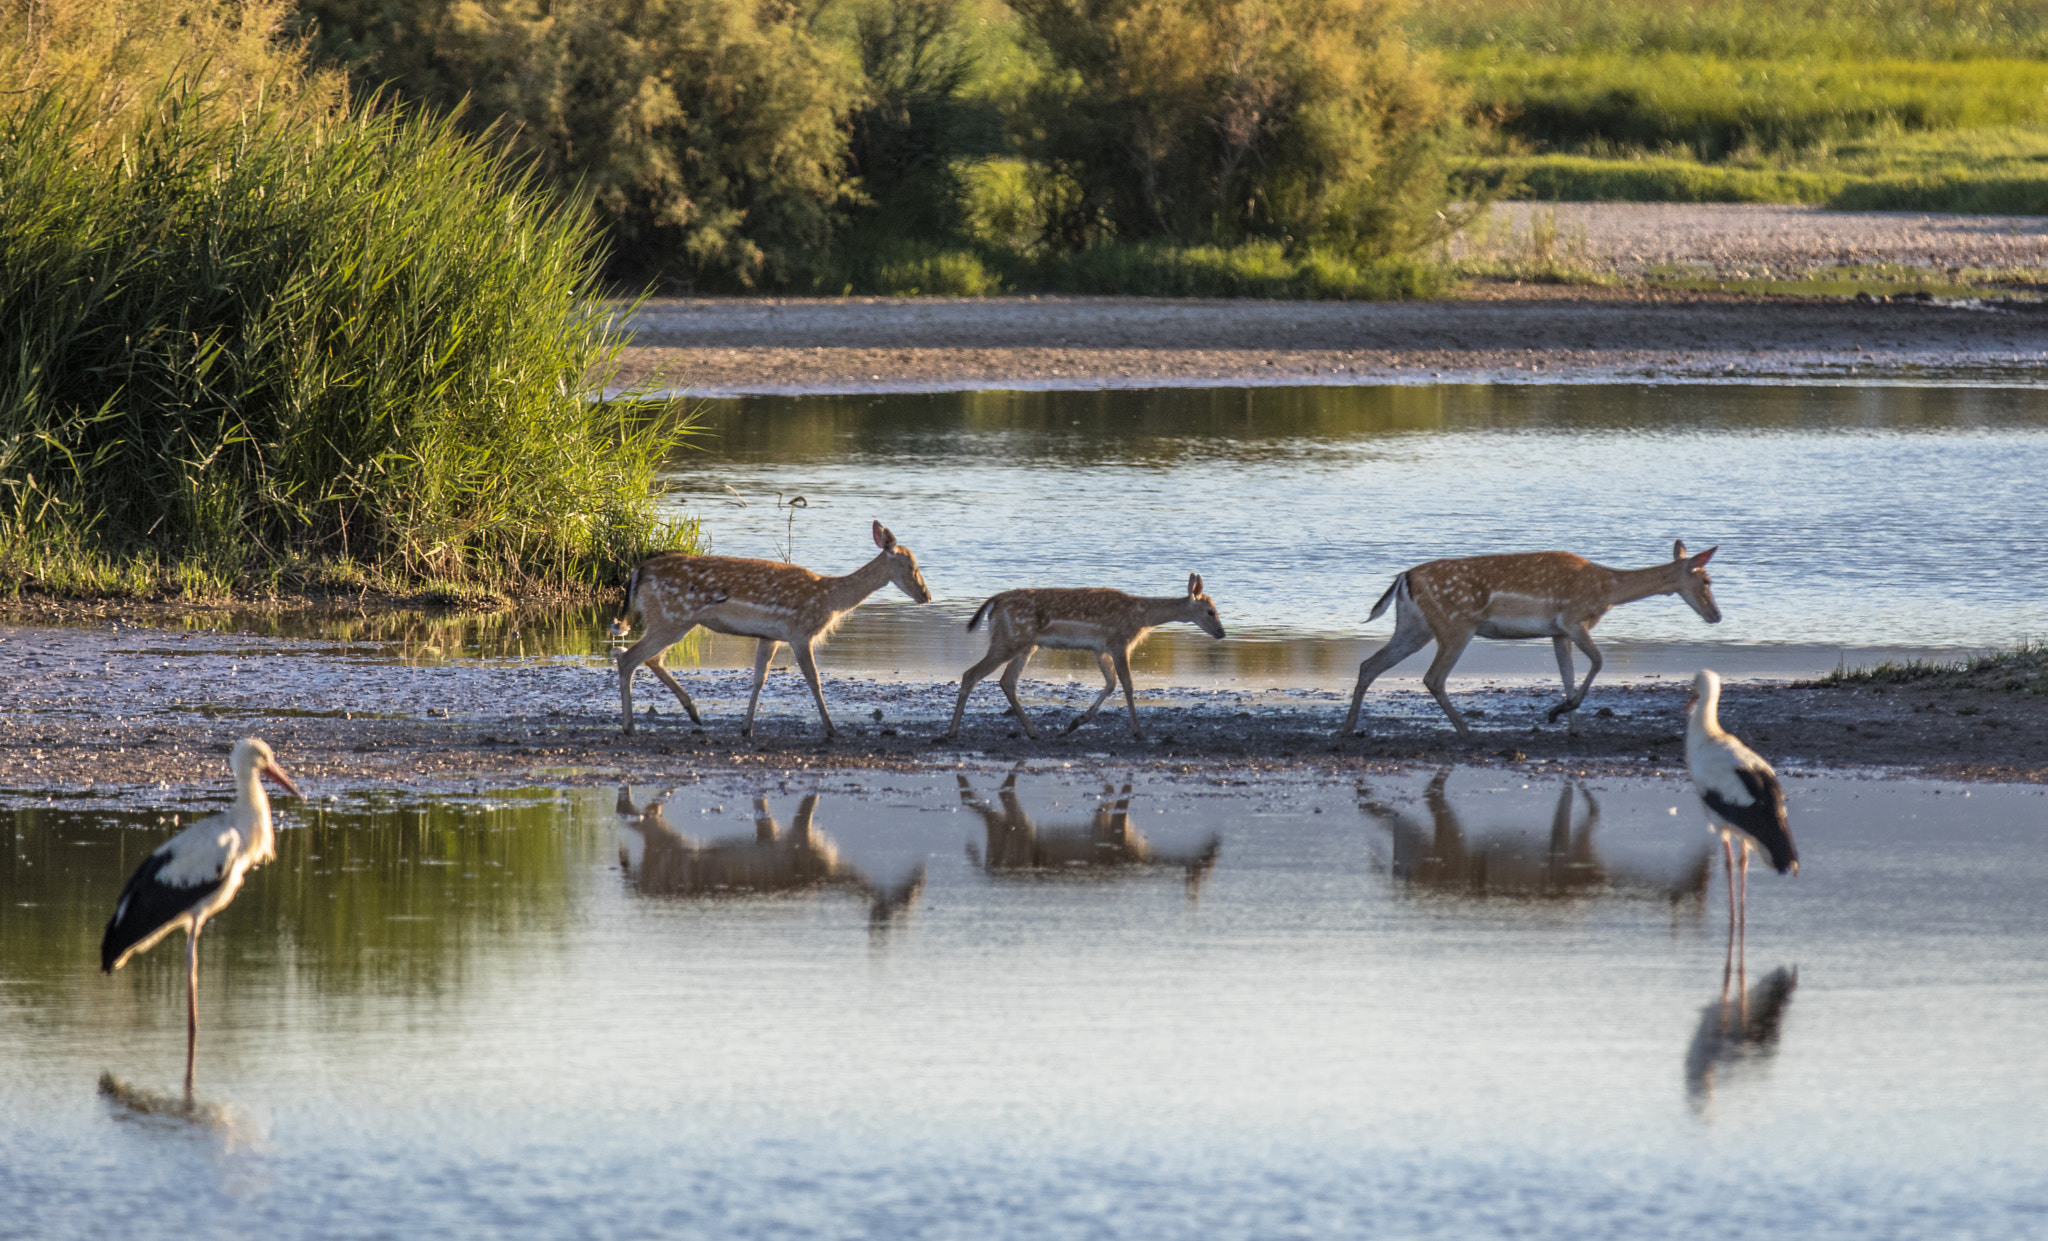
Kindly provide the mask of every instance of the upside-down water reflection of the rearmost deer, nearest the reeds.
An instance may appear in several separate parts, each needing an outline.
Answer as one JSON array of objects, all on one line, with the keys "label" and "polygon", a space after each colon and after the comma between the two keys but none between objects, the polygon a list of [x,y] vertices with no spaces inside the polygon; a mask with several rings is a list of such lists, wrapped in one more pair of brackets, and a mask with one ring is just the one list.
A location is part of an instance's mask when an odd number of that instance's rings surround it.
[{"label": "upside-down water reflection of the rearmost deer, nearest the reeds", "polygon": [[903,883],[881,885],[860,868],[840,860],[838,846],[817,829],[817,795],[807,793],[784,833],[768,811],[768,799],[754,799],[754,836],[694,842],[664,817],[668,799],[633,805],[633,793],[618,788],[618,868],[639,891],[659,897],[723,897],[815,891],[844,887],[868,901],[868,922],[877,928],[905,917],[924,891],[920,864]]}]

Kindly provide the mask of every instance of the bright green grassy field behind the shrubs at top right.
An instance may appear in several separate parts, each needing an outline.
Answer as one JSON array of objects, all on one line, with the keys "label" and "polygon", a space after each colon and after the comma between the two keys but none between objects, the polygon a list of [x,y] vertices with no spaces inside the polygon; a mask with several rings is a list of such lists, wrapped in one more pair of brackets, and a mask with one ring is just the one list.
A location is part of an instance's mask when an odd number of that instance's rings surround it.
[{"label": "bright green grassy field behind the shrubs at top right", "polygon": [[2042,0],[1446,0],[1509,197],[2048,211]]}]

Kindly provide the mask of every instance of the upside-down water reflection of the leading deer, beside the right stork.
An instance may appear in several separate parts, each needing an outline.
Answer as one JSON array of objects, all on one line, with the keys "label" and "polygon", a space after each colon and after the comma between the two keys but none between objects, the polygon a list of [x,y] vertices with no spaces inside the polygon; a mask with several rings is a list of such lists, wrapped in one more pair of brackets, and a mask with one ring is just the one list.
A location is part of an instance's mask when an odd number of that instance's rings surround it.
[{"label": "upside-down water reflection of the leading deer, beside the right stork", "polygon": [[[1358,809],[1393,836],[1393,876],[1417,889],[1466,897],[1573,897],[1597,893],[1653,893],[1679,901],[1706,899],[1712,872],[1710,852],[1700,850],[1675,874],[1640,874],[1614,866],[1593,848],[1599,825],[1599,801],[1589,788],[1567,782],[1559,788],[1550,815],[1550,840],[1538,852],[1518,838],[1473,840],[1444,786],[1452,768],[1440,770],[1423,790],[1430,819],[1393,809],[1376,801],[1372,790],[1358,786]],[[1577,797],[1585,799],[1585,817],[1573,825]]]}]

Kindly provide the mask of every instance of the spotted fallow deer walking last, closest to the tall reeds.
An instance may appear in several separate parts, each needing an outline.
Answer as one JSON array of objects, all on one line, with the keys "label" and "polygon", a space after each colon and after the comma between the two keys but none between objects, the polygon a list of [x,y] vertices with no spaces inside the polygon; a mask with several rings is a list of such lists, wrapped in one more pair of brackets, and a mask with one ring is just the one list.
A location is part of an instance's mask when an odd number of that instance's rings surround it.
[{"label": "spotted fallow deer walking last, closest to the tall reeds", "polygon": [[817,717],[825,721],[825,739],[836,737],[831,713],[825,711],[825,690],[817,684],[813,647],[883,586],[895,584],[911,600],[932,602],[932,590],[918,571],[918,557],[881,522],[874,522],[874,547],[883,549],[881,555],[844,577],[823,577],[778,561],[684,553],[657,555],[633,569],[625,612],[612,625],[612,633],[623,637],[635,610],[647,623],[647,633],[618,655],[618,707],[625,731],[633,731],[633,670],[641,664],[676,692],[676,700],[690,713],[690,723],[705,723],[690,692],[662,664],[664,651],[702,625],[713,633],[760,639],[754,649],[754,694],[748,698],[748,719],[739,725],[741,735],[754,735],[754,713],[762,702],[768,661],[774,659],[776,645],[788,643],[803,680],[811,682]]}]

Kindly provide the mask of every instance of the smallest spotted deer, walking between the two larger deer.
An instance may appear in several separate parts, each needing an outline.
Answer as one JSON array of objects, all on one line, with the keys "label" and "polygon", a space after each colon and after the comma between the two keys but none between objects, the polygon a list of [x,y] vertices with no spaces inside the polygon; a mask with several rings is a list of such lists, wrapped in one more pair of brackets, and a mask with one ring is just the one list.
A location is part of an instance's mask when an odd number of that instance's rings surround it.
[{"label": "smallest spotted deer, walking between the two larger deer", "polygon": [[1096,719],[1102,702],[1116,690],[1116,682],[1120,680],[1124,702],[1130,707],[1130,735],[1143,741],[1139,700],[1130,688],[1130,651],[1153,629],[1174,621],[1186,621],[1198,625],[1210,637],[1223,637],[1223,621],[1217,616],[1217,604],[1202,594],[1200,573],[1188,573],[1188,594],[1169,598],[1141,598],[1120,590],[1006,590],[975,610],[975,616],[967,623],[967,631],[973,633],[983,616],[989,618],[989,653],[961,674],[961,698],[952,704],[952,727],[946,731],[948,741],[961,735],[961,715],[967,711],[967,694],[975,688],[975,682],[999,664],[1010,664],[1004,670],[1001,686],[1010,698],[1010,707],[1018,713],[1018,725],[1022,725],[1026,737],[1038,739],[1036,729],[1030,727],[1024,702],[1018,700],[1018,678],[1038,647],[1094,651],[1096,664],[1102,668],[1102,692],[1096,694],[1096,702],[1087,711],[1067,725],[1069,733]]}]

